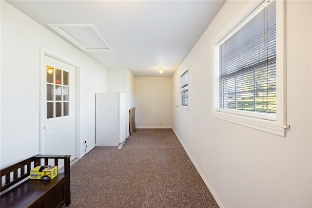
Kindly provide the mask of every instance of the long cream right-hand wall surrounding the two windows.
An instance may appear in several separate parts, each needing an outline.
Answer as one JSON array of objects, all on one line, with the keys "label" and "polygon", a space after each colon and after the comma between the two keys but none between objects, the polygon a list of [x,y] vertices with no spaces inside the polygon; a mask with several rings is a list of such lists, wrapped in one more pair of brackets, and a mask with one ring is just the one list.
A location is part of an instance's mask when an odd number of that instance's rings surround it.
[{"label": "long cream right-hand wall surrounding the two windows", "polygon": [[211,116],[212,40],[247,3],[227,1],[173,76],[173,129],[220,206],[312,207],[312,1],[287,1],[286,137]]}]

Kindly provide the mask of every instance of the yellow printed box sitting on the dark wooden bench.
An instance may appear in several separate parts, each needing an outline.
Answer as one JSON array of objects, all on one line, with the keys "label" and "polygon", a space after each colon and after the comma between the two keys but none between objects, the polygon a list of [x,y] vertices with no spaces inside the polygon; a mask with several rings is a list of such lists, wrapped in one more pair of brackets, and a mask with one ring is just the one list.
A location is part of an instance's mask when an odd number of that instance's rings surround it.
[{"label": "yellow printed box sitting on the dark wooden bench", "polygon": [[30,170],[30,179],[52,180],[58,175],[58,166],[37,166]]}]

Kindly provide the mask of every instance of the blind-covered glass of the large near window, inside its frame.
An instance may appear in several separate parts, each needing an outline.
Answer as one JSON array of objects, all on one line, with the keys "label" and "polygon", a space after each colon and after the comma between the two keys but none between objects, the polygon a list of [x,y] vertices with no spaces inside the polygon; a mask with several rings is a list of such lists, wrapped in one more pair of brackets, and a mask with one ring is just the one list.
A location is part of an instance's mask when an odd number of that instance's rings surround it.
[{"label": "blind-covered glass of the large near window, inside its frame", "polygon": [[221,40],[221,109],[276,113],[275,16],[273,1],[231,36]]}]

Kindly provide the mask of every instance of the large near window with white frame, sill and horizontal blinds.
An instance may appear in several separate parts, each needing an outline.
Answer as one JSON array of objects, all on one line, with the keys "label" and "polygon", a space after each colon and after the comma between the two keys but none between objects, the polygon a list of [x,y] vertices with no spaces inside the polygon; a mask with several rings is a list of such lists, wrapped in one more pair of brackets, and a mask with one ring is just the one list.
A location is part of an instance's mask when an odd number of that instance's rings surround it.
[{"label": "large near window with white frame, sill and horizontal blinds", "polygon": [[[289,126],[285,124],[282,104],[285,100],[284,19],[277,19],[277,16],[283,17],[280,14],[285,7],[283,2],[278,3],[279,15],[277,2],[267,0],[253,12],[247,11],[250,15],[215,44],[212,114],[216,118],[285,135]],[[268,128],[268,125],[276,128]]]}]

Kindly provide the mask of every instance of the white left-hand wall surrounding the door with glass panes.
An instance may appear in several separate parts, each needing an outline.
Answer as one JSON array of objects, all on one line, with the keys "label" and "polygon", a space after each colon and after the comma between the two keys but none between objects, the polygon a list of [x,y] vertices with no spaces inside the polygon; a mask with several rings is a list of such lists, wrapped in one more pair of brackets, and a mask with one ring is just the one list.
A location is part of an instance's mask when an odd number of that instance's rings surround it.
[{"label": "white left-hand wall surrounding the door with glass panes", "polygon": [[80,69],[80,151],[95,146],[95,92],[106,92],[106,69],[1,3],[1,169],[39,154],[41,48]]}]

